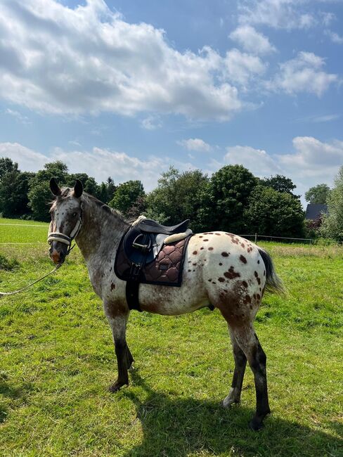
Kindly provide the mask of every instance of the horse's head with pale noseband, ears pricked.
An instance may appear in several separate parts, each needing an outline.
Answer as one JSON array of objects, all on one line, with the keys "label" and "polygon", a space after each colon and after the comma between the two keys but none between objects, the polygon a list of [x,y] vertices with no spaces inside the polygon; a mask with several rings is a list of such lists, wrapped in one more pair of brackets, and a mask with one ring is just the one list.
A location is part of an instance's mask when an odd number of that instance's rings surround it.
[{"label": "horse's head with pale noseband, ears pricked", "polygon": [[60,189],[56,179],[51,178],[50,188],[56,198],[50,209],[49,254],[54,264],[62,264],[82,224],[83,187],[77,179],[74,188]]}]

